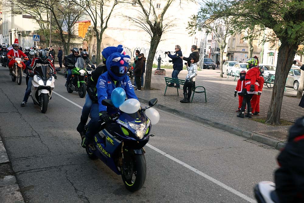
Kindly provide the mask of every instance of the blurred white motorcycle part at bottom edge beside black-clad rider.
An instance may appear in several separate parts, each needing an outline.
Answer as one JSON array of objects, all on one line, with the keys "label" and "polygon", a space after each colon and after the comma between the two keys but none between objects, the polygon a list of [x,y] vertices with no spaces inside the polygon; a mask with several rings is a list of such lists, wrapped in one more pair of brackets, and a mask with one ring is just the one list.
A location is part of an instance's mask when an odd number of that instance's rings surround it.
[{"label": "blurred white motorcycle part at bottom edge beside black-clad rider", "polygon": [[261,181],[254,187],[254,196],[258,203],[278,203],[279,199],[275,192],[275,183]]}]

